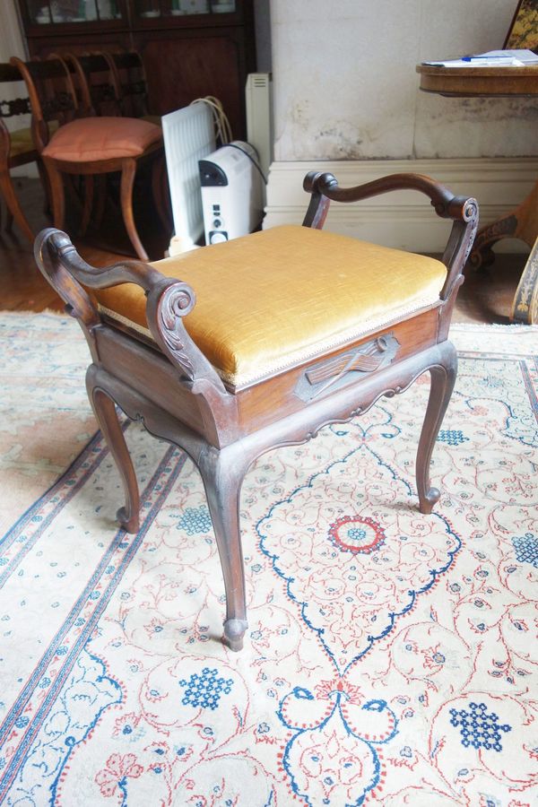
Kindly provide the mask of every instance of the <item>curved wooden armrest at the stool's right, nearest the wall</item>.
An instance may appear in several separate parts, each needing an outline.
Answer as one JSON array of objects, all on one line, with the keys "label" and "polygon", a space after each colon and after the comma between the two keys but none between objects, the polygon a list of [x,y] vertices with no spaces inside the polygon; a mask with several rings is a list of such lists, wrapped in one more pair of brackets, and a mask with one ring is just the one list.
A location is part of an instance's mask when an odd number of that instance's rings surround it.
[{"label": "curved wooden armrest at the stool's right, nearest the wall", "polygon": [[478,228],[478,203],[472,196],[455,196],[434,179],[412,173],[391,174],[365,185],[343,188],[338,186],[333,174],[310,171],[304,179],[303,187],[312,196],[303,226],[316,230],[322,229],[331,201],[360,202],[362,199],[395,190],[416,190],[427,195],[438,216],[454,221],[442,257],[447,266],[447,280],[441,291],[441,299],[449,297],[456,282],[457,285],[463,282],[463,268]]}]

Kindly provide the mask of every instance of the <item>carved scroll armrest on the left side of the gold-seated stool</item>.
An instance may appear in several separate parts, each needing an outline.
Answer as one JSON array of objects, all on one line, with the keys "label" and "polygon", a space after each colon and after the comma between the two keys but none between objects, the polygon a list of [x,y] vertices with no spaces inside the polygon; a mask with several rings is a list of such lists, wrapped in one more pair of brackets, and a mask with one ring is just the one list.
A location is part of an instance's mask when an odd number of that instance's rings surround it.
[{"label": "carved scroll armrest on the left side of the gold-seated stool", "polygon": [[86,288],[107,289],[135,283],[145,291],[146,318],[155,342],[187,378],[191,391],[206,395],[209,384],[217,395],[230,396],[221,377],[183,325],[183,317],[192,311],[196,300],[187,283],[171,280],[142,261],[127,260],[105,268],[91,266],[78,254],[69,236],[55,228],[41,230],[34,255],[41,273],[64,300],[68,313],[79,320],[92,354],[96,350],[92,330],[102,320]]}]

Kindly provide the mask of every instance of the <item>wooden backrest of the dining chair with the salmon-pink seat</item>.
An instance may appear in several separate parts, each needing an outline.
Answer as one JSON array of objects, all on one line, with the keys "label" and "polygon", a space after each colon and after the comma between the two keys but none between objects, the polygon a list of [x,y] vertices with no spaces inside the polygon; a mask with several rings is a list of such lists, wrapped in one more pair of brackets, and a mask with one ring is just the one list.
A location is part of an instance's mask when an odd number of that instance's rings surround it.
[{"label": "wooden backrest of the dining chair with the salmon-pink seat", "polygon": [[48,143],[48,123],[63,126],[83,113],[74,91],[74,83],[63,59],[23,62],[17,56],[10,59],[22,74],[30,96],[31,129],[39,153]]}]

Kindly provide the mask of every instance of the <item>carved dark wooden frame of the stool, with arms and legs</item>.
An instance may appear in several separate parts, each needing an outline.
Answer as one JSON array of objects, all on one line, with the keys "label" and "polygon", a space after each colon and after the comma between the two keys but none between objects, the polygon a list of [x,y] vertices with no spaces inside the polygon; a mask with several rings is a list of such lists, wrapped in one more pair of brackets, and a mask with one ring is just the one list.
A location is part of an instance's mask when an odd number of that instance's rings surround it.
[{"label": "carved dark wooden frame of the stool, with arms and legs", "polygon": [[[303,224],[316,229],[323,227],[330,200],[356,202],[405,188],[429,196],[439,216],[454,220],[443,256],[447,279],[439,299],[430,306],[244,388],[225,386],[187,334],[183,317],[195,306],[195,292],[187,283],[138,261],[93,268],[59,230],[43,230],[35,246],[41,272],[79,321],[90,347],[88,395],[125,488],[126,505],[117,514],[120,524],[127,532],[137,531],[140,500],[115,404],[129,418],[142,421],[153,435],[183,448],[201,473],[226,591],[224,638],[232,650],[243,646],[247,629],[239,497],[247,468],[256,457],[274,447],[303,443],[328,423],[349,421],[382,395],[404,392],[429,371],[430,398],[416,462],[421,513],[430,513],[440,495],[430,486],[430,457],[456,379],[456,351],[447,333],[464,280],[462,269],[473,245],[478,205],[473,198],[454,196],[416,174],[395,174],[343,189],[332,174],[310,173],[304,187],[311,199]],[[147,322],[156,344],[144,342],[140,334],[100,314],[82,288],[97,290],[124,282],[143,288]],[[382,276],[379,294],[383,294]],[[327,305],[330,299],[327,289]],[[298,383],[313,365],[330,362],[333,366],[338,356],[365,348],[371,351],[372,344],[383,351],[388,337],[396,340],[397,351],[379,369],[340,371],[320,395],[308,401],[297,395]]]}]

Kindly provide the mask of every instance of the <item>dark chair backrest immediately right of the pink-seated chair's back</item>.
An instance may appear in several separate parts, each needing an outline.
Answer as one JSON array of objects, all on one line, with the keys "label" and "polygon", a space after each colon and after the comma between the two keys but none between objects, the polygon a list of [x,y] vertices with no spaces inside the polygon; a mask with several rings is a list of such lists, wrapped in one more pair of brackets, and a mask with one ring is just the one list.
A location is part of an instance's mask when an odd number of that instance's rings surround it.
[{"label": "dark chair backrest immediately right of the pink-seated chair's back", "polygon": [[88,115],[122,114],[117,74],[103,53],[63,56],[76,78],[79,103]]}]

